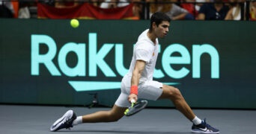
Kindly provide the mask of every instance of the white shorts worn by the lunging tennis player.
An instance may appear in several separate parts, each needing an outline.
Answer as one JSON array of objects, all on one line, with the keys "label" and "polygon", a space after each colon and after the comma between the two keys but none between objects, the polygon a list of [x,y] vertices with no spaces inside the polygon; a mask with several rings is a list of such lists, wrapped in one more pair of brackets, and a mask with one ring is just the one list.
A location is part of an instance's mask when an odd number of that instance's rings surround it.
[{"label": "white shorts worn by the lunging tennis player", "polygon": [[[131,77],[125,76],[121,83],[121,94],[118,100],[115,101],[115,105],[120,107],[128,107],[130,105],[128,96],[131,87]],[[155,80],[147,80],[138,85],[138,98],[147,100],[157,100],[162,95],[162,83]]]}]

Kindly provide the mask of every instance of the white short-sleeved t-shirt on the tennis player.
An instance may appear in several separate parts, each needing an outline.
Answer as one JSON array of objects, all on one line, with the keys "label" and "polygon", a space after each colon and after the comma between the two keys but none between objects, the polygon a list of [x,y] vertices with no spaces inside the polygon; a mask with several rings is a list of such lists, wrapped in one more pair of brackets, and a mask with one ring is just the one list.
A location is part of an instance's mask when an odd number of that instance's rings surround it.
[{"label": "white short-sleeved t-shirt on the tennis player", "polygon": [[138,36],[138,41],[133,48],[132,62],[129,66],[128,75],[131,77],[135,66],[135,61],[144,60],[146,62],[144,71],[141,73],[139,83],[146,80],[153,80],[153,71],[156,66],[156,59],[158,55],[158,39],[156,39],[156,44],[154,44],[147,36],[148,31],[149,29]]}]

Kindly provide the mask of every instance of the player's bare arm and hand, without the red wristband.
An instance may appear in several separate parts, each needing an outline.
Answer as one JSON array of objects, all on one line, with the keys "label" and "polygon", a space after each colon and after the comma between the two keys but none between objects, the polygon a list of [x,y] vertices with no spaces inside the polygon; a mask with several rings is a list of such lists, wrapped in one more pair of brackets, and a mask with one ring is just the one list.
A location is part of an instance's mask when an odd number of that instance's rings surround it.
[{"label": "player's bare arm and hand, without the red wristband", "polygon": [[[131,80],[131,86],[137,86],[138,87],[138,83],[139,83],[139,79],[141,77],[141,73],[144,70],[144,67],[146,65],[146,62],[143,60],[136,60],[135,62],[135,67],[132,71],[132,80]],[[138,100],[138,97],[136,94],[130,94],[128,97],[129,102],[131,102],[131,100]]]}]

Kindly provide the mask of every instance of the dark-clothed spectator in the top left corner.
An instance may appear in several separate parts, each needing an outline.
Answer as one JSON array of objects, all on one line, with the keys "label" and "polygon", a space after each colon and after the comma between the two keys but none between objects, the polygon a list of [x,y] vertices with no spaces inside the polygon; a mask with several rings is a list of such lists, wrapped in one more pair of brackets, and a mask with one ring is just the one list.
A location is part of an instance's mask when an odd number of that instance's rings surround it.
[{"label": "dark-clothed spectator in the top left corner", "polygon": [[0,17],[13,18],[14,10],[11,1],[0,1]]}]

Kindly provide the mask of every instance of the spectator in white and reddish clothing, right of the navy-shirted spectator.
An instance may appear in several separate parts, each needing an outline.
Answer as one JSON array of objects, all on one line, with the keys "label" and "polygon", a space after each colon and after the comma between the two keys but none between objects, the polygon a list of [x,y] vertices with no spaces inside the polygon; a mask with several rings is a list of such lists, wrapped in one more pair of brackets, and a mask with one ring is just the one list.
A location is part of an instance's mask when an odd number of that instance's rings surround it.
[{"label": "spectator in white and reddish clothing, right of the navy-shirted spectator", "polygon": [[230,0],[230,10],[228,10],[225,20],[241,20],[241,5],[239,2],[245,2],[245,0]]}]

